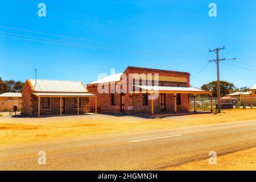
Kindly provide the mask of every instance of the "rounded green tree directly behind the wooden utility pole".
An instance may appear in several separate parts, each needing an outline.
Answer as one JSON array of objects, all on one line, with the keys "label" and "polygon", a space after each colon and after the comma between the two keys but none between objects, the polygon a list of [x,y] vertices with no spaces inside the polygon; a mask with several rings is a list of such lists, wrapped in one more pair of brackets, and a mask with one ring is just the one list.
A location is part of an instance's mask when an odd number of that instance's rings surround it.
[{"label": "rounded green tree directly behind the wooden utility pole", "polygon": [[[201,86],[201,89],[212,91],[213,97],[217,97],[217,81],[212,81],[209,82],[209,84],[204,84],[203,86]],[[234,84],[227,81],[220,81],[221,97],[232,93],[235,89],[236,87],[234,86]]]}]

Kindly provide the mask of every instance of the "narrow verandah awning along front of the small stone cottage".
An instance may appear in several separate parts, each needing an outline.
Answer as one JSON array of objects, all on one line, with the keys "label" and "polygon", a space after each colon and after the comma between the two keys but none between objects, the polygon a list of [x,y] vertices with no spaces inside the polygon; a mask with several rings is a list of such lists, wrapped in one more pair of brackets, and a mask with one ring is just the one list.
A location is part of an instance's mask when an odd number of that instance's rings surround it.
[{"label": "narrow verandah awning along front of the small stone cottage", "polygon": [[38,97],[96,97],[92,93],[32,93]]}]

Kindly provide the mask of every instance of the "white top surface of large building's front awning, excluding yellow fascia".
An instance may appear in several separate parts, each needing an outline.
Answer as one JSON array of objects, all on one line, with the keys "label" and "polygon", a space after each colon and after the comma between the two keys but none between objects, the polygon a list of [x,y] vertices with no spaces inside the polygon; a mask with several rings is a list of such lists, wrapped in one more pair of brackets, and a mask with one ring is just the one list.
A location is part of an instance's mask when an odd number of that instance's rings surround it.
[{"label": "white top surface of large building's front awning, excluding yellow fascia", "polygon": [[148,86],[148,85],[134,85],[144,90],[152,91],[181,91],[181,92],[210,92],[185,86]]}]

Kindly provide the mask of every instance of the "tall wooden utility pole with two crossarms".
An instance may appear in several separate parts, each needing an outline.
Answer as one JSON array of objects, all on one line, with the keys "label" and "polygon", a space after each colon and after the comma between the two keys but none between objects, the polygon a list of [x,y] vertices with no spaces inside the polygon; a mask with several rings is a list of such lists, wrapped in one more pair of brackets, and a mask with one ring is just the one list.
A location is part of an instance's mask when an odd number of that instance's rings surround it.
[{"label": "tall wooden utility pole with two crossarms", "polygon": [[[209,62],[215,62],[217,64],[217,102],[218,102],[218,113],[221,113],[221,99],[220,99],[220,61],[225,61],[226,59],[219,59],[218,58],[218,51],[220,51],[221,49],[225,49],[225,47],[223,46],[222,48],[216,48],[214,50],[209,50],[209,52],[215,52],[217,59],[216,60],[210,60]],[[236,58],[233,59],[229,59],[229,60],[235,60]]]}]

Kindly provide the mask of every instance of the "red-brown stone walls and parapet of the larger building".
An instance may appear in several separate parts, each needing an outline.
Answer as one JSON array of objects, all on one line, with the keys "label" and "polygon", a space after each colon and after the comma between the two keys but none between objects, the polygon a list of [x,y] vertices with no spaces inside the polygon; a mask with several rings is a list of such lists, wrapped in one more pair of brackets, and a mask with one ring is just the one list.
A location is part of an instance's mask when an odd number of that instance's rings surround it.
[{"label": "red-brown stone walls and parapet of the larger building", "polygon": [[[159,76],[171,76],[171,77],[184,77],[187,78],[187,82],[166,82],[159,81],[159,85],[167,86],[189,86],[189,73],[185,72],[173,72],[173,71],[162,71],[158,69],[147,69],[147,68],[134,68],[127,67],[123,73],[127,77],[127,89],[129,84],[129,73],[158,73]],[[115,85],[117,82],[115,82]],[[97,84],[88,85],[87,88],[90,93],[97,95],[97,106],[100,106],[101,113],[120,113],[121,110],[121,95],[115,93],[115,106],[112,106],[111,93],[98,93]],[[109,85],[110,87],[110,85]],[[110,92],[110,88],[108,88]],[[95,106],[95,98],[90,98],[90,106]],[[177,111],[189,110],[189,95],[181,94],[181,105],[177,105]],[[160,98],[154,100],[154,112],[160,111]],[[166,94],[166,111],[174,111],[174,94]],[[136,94],[125,94],[125,111],[124,113],[150,113],[151,112],[151,100],[148,100],[148,105],[143,106],[142,93]]]}]

